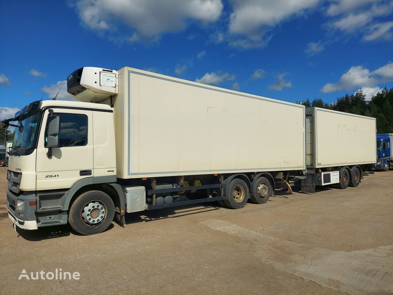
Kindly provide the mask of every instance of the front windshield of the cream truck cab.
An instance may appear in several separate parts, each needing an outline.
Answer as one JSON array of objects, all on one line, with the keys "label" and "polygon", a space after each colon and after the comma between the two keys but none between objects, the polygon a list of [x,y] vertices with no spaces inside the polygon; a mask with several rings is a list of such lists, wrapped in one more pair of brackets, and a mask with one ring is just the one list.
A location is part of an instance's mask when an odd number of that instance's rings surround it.
[{"label": "front windshield of the cream truck cab", "polygon": [[39,119],[39,111],[21,115],[15,130],[13,149],[33,147]]}]

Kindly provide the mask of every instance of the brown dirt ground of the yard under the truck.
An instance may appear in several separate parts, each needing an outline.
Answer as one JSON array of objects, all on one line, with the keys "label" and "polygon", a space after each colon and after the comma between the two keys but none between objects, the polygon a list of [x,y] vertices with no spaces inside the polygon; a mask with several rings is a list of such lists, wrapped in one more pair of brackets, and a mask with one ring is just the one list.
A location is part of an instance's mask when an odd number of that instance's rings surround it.
[{"label": "brown dirt ground of the yard under the truck", "polygon": [[[357,188],[277,191],[264,205],[128,214],[94,236],[15,230],[0,168],[1,294],[390,294],[393,171]],[[18,280],[22,270],[79,280]]]}]

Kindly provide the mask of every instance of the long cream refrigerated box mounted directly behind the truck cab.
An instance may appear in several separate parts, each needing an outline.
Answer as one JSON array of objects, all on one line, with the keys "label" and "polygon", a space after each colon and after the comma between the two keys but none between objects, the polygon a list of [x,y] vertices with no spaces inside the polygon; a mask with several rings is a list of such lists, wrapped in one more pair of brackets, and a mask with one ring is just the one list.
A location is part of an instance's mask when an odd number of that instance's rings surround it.
[{"label": "long cream refrigerated box mounted directly behind the truck cab", "polygon": [[118,79],[119,178],[305,169],[303,105],[129,67]]}]

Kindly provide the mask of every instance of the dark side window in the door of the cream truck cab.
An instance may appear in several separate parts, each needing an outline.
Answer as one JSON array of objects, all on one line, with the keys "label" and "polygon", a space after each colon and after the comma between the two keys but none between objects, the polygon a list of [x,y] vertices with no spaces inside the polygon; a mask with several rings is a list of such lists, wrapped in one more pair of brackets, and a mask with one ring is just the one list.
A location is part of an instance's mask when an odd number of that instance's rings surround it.
[{"label": "dark side window in the door of the cream truck cab", "polygon": [[86,146],[87,116],[82,114],[54,113],[60,116],[59,146]]}]

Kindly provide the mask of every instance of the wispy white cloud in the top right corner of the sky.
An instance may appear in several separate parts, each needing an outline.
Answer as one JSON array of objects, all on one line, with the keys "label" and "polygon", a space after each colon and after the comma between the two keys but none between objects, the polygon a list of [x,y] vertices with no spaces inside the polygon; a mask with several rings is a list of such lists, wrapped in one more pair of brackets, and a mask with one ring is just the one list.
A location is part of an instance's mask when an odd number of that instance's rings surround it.
[{"label": "wispy white cloud in the top right corner of the sky", "polygon": [[383,22],[393,12],[388,0],[331,0],[327,15],[332,17],[328,27],[344,33],[362,33],[365,41],[392,39],[393,22]]}]

